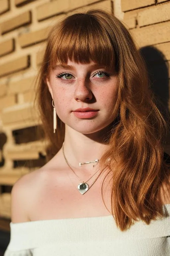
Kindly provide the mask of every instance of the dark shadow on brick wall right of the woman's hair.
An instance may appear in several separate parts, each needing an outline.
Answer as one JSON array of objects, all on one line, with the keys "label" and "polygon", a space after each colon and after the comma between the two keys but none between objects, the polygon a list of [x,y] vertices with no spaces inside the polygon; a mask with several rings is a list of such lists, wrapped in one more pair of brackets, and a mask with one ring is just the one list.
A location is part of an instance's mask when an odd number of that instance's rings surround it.
[{"label": "dark shadow on brick wall right of the woman's hair", "polygon": [[[169,116],[169,66],[165,56],[152,46],[140,48],[140,54],[145,60],[150,86],[156,97],[156,105],[170,124]],[[164,138],[164,151],[170,155],[170,130]]]}]

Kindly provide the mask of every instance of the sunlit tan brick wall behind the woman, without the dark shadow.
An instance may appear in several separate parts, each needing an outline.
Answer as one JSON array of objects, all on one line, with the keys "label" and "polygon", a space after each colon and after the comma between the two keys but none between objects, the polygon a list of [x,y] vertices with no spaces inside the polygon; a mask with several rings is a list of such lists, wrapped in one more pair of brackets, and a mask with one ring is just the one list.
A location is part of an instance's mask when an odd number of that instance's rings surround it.
[{"label": "sunlit tan brick wall behind the woman, without the dark shadow", "polygon": [[[48,31],[74,11],[101,8],[124,21],[139,47],[156,46],[170,61],[170,1],[1,0],[0,216],[10,218],[10,189],[44,164],[34,89]],[[39,139],[37,138],[39,134]],[[40,135],[41,134],[41,135]]]}]

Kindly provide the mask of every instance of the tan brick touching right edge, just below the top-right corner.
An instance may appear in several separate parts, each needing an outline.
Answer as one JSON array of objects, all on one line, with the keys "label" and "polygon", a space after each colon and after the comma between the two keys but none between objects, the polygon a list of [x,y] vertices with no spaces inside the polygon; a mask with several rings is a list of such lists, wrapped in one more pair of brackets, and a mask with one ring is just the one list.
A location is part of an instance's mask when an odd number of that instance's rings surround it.
[{"label": "tan brick touching right edge, just below the top-right corner", "polygon": [[140,27],[170,20],[170,2],[141,10],[137,20]]}]

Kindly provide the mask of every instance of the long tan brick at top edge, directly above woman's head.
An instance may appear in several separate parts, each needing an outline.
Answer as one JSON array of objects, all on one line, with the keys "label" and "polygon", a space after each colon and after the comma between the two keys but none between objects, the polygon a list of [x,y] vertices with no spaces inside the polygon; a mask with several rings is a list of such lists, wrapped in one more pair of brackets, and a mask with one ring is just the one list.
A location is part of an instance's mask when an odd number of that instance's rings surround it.
[{"label": "long tan brick at top edge, directly above woman's head", "polygon": [[39,21],[44,20],[53,15],[57,15],[62,12],[66,13],[95,2],[98,2],[98,0],[64,0],[64,4],[63,0],[52,1],[37,8],[37,18]]}]

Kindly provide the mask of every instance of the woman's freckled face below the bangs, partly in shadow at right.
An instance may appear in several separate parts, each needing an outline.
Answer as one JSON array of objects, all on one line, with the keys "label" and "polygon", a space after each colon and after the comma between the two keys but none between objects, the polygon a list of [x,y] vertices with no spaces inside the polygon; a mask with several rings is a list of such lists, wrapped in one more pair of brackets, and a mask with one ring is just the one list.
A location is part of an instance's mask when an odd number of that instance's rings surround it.
[{"label": "woman's freckled face below the bangs, partly in shadow at right", "polygon": [[[90,134],[107,127],[117,100],[117,76],[94,62],[56,65],[46,79],[58,117],[72,129]],[[51,101],[52,104],[52,101]]]}]

